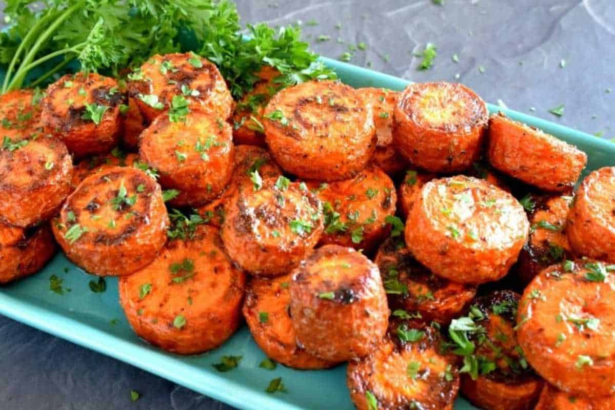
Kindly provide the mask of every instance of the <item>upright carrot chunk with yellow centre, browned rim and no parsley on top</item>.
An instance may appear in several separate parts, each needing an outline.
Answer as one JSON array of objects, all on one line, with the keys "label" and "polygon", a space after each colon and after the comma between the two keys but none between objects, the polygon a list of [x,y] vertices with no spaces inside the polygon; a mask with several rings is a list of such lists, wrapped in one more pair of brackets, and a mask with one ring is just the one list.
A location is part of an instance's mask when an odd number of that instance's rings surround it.
[{"label": "upright carrot chunk with yellow centre, browned rim and no parsley on top", "polygon": [[410,164],[431,172],[469,168],[480,157],[485,101],[461,84],[410,84],[395,106],[393,140]]}]

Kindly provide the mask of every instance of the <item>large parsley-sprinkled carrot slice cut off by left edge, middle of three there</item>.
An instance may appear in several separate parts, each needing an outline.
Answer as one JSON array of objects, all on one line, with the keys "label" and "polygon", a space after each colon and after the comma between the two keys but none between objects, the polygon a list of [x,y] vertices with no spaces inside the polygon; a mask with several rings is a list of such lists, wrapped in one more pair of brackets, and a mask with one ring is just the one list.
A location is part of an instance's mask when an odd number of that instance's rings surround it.
[{"label": "large parsley-sprinkled carrot slice cut off by left edge, middle of three there", "polygon": [[0,220],[26,227],[49,219],[71,192],[73,160],[51,136],[0,149]]}]

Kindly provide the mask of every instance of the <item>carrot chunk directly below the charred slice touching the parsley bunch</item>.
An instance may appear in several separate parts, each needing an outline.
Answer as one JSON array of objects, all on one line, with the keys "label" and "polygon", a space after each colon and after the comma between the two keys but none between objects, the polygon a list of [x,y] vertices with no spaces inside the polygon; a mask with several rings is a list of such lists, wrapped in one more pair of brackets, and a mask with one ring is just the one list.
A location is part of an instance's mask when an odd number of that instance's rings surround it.
[{"label": "carrot chunk directly below the charred slice touching the parsley bunch", "polygon": [[199,206],[215,199],[231,179],[234,145],[231,127],[205,111],[172,122],[159,116],[141,133],[139,157],[160,172],[159,181],[180,194],[174,206]]}]

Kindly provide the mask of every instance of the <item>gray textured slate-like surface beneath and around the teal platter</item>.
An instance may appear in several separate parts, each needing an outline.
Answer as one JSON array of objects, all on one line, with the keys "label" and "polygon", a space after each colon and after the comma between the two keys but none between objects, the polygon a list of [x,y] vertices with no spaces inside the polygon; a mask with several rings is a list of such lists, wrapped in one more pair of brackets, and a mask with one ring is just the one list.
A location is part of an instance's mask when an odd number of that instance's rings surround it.
[{"label": "gray textured slate-like surface beneath and around the teal platter", "polygon": [[[363,41],[367,50],[354,52],[355,65],[371,62],[375,70],[413,81],[453,81],[459,73],[459,81],[487,101],[501,99],[509,108],[615,138],[613,0],[445,0],[444,6],[431,0],[238,4],[244,22],[282,25],[301,20],[304,33],[322,55],[338,57],[349,44]],[[317,24],[308,24],[312,20]],[[320,34],[331,39],[317,41]],[[412,53],[427,42],[438,47],[438,57],[432,69],[418,71],[420,59]],[[459,63],[451,60],[455,53]],[[566,60],[565,68],[560,68],[560,60]],[[561,118],[548,112],[559,104],[565,104]],[[0,408],[6,410],[230,409],[1,316],[0,369]],[[130,402],[131,389],[142,393],[137,403]]]}]

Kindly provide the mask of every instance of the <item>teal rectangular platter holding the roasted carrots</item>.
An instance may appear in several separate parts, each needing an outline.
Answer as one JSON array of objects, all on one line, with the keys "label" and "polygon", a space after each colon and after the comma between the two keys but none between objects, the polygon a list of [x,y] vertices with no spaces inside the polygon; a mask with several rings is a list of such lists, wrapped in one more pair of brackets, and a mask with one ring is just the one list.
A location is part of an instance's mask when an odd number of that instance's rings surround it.
[{"label": "teal rectangular platter holding the roasted carrots", "polygon": [[[397,77],[328,58],[322,60],[335,69],[341,81],[354,87],[402,90],[409,84]],[[490,105],[489,109],[492,112],[504,111],[515,120],[576,145],[589,157],[585,173],[615,164],[615,144],[609,141],[498,106]],[[62,278],[67,289],[63,295],[49,289],[51,275]],[[90,291],[92,279],[58,253],[38,274],[0,287],[0,313],[239,409],[354,408],[346,388],[346,366],[323,371],[299,371],[284,366],[278,366],[274,371],[261,369],[258,365],[265,356],[246,326],[220,348],[202,355],[183,357],[156,349],[130,329],[119,306],[116,278],[106,280],[105,293]],[[241,355],[243,358],[236,369],[218,373],[212,364],[220,362],[223,355]],[[282,377],[287,393],[268,394],[264,391],[274,377]],[[474,407],[459,398],[455,409]]]}]

